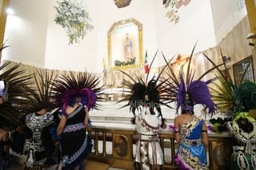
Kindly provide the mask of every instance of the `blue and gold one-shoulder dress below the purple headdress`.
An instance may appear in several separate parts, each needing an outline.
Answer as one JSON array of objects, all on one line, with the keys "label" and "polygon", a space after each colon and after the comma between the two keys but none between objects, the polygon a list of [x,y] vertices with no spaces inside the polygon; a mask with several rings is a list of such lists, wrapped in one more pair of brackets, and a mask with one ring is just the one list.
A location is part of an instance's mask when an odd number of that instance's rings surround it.
[{"label": "blue and gold one-shoulder dress below the purple headdress", "polygon": [[180,169],[208,169],[206,150],[202,144],[202,123],[201,117],[194,117],[179,127],[181,140],[174,160]]}]

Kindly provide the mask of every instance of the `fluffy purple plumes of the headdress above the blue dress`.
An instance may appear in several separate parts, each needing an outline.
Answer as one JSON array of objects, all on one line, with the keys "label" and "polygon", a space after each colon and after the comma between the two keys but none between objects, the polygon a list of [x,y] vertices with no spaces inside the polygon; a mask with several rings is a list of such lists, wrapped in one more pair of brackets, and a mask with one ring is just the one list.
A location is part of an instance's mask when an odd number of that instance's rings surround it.
[{"label": "fluffy purple plumes of the headdress above the blue dress", "polygon": [[216,106],[211,99],[210,90],[208,89],[208,84],[214,81],[210,79],[209,81],[193,81],[193,75],[189,76],[188,83],[185,85],[185,81],[182,76],[182,71],[180,72],[181,83],[178,85],[178,93],[176,97],[176,113],[178,109],[186,111],[186,113],[193,114],[194,105],[203,105],[205,110],[212,116],[216,112]]}]

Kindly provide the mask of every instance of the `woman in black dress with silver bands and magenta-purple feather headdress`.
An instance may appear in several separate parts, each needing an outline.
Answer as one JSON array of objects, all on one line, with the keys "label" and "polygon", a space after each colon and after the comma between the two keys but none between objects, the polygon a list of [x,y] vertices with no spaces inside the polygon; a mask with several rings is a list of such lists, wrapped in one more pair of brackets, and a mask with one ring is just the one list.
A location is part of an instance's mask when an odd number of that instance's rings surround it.
[{"label": "woman in black dress with silver bands and magenta-purple feather headdress", "polygon": [[92,140],[86,126],[90,109],[97,109],[96,101],[101,87],[92,73],[70,72],[54,83],[54,102],[62,108],[62,118],[57,128],[60,135],[61,161],[58,169],[79,169],[92,149]]}]

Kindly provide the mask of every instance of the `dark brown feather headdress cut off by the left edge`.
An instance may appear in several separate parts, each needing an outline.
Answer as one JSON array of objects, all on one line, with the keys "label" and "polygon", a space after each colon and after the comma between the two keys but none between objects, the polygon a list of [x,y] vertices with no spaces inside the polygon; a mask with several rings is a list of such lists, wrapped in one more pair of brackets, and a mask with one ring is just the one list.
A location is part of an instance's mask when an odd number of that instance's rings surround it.
[{"label": "dark brown feather headdress cut off by the left edge", "polygon": [[19,64],[10,65],[10,61],[0,66],[2,81],[2,97],[4,102],[0,105],[0,119],[2,124],[10,126],[19,125],[29,105],[30,93],[26,86],[31,84],[31,75],[26,75],[24,70],[19,69]]}]

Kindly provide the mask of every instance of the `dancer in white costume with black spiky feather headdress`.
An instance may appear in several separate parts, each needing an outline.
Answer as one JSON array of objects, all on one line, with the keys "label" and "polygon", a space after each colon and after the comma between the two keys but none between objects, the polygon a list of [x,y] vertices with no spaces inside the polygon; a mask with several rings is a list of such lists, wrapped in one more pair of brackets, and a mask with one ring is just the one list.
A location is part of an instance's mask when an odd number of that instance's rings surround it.
[{"label": "dancer in white costume with black spiky feather headdress", "polygon": [[123,81],[124,87],[130,89],[130,95],[121,101],[129,101],[122,107],[130,106],[130,111],[134,114],[132,122],[139,134],[135,152],[136,168],[159,170],[164,164],[164,158],[158,132],[166,128],[166,119],[162,117],[160,107],[160,105],[166,105],[164,103],[166,101],[165,88],[162,85],[164,81],[159,81],[162,72],[158,77],[152,77],[150,81],[147,81],[148,77],[146,77],[146,82],[142,77],[137,76],[134,79],[129,74],[122,73],[133,81]]}]

